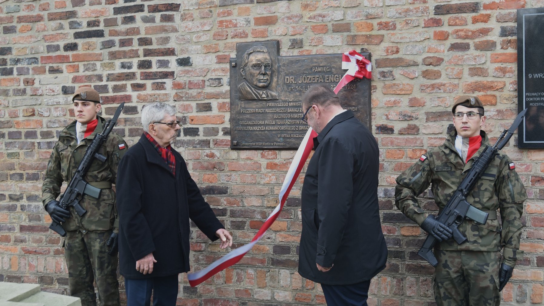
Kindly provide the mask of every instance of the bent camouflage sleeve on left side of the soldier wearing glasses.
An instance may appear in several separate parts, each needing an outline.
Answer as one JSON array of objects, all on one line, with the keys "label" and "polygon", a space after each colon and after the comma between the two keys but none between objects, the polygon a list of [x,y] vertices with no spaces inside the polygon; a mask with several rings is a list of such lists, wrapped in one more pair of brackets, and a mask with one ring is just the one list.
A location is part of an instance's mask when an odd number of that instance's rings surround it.
[{"label": "bent camouflage sleeve on left side of the soldier wearing glasses", "polygon": [[419,205],[417,196],[429,187],[431,175],[429,158],[423,155],[398,176],[397,187],[395,187],[395,205],[406,217],[420,226],[429,213]]}]

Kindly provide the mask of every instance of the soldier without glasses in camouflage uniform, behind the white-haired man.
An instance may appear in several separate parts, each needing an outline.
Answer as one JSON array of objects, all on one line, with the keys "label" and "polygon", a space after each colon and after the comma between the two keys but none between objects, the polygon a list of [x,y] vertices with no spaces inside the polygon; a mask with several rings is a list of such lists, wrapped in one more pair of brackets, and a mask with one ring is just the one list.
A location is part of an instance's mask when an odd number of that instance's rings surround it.
[{"label": "soldier without glasses in camouflage uniform, behind the white-haired man", "polygon": [[112,183],[115,183],[119,161],[128,145],[119,135],[110,133],[98,150],[107,160],[101,163],[95,159],[84,179],[102,191],[99,199],[83,195],[79,204],[87,212],[82,217],[73,207],[69,210],[60,207],[56,199],[63,181],[70,181],[92,138],[102,132],[106,123],[97,115],[101,104],[94,89],[77,89],[72,101],[76,120],[60,132],[51,152],[42,186],[42,201],[51,218],[61,222],[66,230],[64,253],[71,295],[81,298],[82,306],[96,306],[93,285],[96,281],[100,305],[118,306],[119,227]]}]

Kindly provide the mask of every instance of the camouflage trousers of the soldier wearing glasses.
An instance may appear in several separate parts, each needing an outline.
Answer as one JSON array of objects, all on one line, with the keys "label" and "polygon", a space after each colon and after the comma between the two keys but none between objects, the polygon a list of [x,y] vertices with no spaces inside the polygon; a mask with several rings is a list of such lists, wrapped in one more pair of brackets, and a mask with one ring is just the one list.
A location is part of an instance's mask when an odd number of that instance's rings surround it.
[{"label": "camouflage trousers of the soldier wearing glasses", "polygon": [[499,252],[436,250],[438,306],[498,306]]}]

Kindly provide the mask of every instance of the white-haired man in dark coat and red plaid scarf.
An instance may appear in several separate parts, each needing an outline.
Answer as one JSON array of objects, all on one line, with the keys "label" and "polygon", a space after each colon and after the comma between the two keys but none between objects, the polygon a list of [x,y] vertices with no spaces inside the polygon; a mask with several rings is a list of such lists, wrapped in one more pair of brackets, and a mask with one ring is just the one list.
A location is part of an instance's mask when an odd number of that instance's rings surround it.
[{"label": "white-haired man in dark coat and red plaid scarf", "polygon": [[127,303],[175,305],[178,274],[189,271],[189,218],[221,248],[232,236],[215,217],[171,147],[180,122],[174,106],[152,103],[141,114],[144,133],[118,169],[119,266]]}]

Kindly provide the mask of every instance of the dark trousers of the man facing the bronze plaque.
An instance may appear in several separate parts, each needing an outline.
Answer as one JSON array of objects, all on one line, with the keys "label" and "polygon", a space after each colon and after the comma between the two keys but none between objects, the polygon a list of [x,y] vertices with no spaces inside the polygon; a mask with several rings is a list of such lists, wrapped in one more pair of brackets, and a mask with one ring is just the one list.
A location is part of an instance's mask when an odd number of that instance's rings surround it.
[{"label": "dark trousers of the man facing the bronze plaque", "polygon": [[321,287],[328,306],[368,306],[370,280],[351,285],[322,284]]}]

